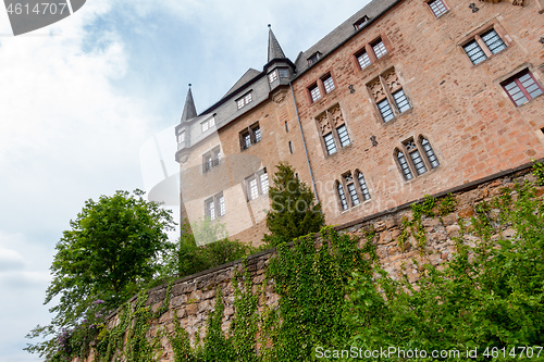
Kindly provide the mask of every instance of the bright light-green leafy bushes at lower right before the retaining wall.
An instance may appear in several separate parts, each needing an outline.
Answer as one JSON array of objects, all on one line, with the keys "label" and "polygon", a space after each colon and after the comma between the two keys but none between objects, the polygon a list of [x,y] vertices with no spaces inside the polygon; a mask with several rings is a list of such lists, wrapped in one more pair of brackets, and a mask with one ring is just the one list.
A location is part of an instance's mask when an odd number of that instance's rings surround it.
[{"label": "bright light-green leafy bushes at lower right before the retaining wall", "polygon": [[[517,201],[503,195],[477,212],[471,224],[479,244],[466,245],[462,227],[455,258],[443,270],[421,265],[418,288],[379,266],[376,279],[355,273],[346,314],[356,330],[351,346],[461,352],[478,347],[484,360],[487,347],[543,345],[544,203],[523,185]],[[508,227],[516,230],[514,239],[502,236]]]}]

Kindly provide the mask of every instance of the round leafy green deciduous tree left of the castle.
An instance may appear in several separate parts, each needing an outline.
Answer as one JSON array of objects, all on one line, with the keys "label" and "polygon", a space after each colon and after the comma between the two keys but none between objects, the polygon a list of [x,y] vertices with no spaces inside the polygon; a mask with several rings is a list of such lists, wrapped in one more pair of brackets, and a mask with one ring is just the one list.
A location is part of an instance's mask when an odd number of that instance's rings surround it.
[{"label": "round leafy green deciduous tree left of the castle", "polygon": [[[171,212],[141,198],[144,191],[116,191],[98,201],[89,199],[71,229],[57,244],[50,267],[53,280],[45,303],[60,297],[50,309],[51,324],[37,326],[29,337],[53,335],[29,352],[54,360],[70,330],[103,316],[148,283],[158,271],[160,255],[170,248],[166,230],[173,228]],[[97,309],[100,304],[100,309]],[[64,344],[66,345],[66,344]]]}]

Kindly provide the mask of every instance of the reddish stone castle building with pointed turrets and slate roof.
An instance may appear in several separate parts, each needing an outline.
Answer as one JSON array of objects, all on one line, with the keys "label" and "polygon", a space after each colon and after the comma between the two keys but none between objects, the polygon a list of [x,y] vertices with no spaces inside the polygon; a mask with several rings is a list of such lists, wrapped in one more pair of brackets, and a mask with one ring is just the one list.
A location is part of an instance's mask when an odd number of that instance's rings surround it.
[{"label": "reddish stone castle building with pointed turrets and slate roof", "polygon": [[[473,0],[472,0],[473,1]],[[542,0],[374,0],[176,126],[182,219],[259,244],[287,161],[345,224],[544,157]]]}]

